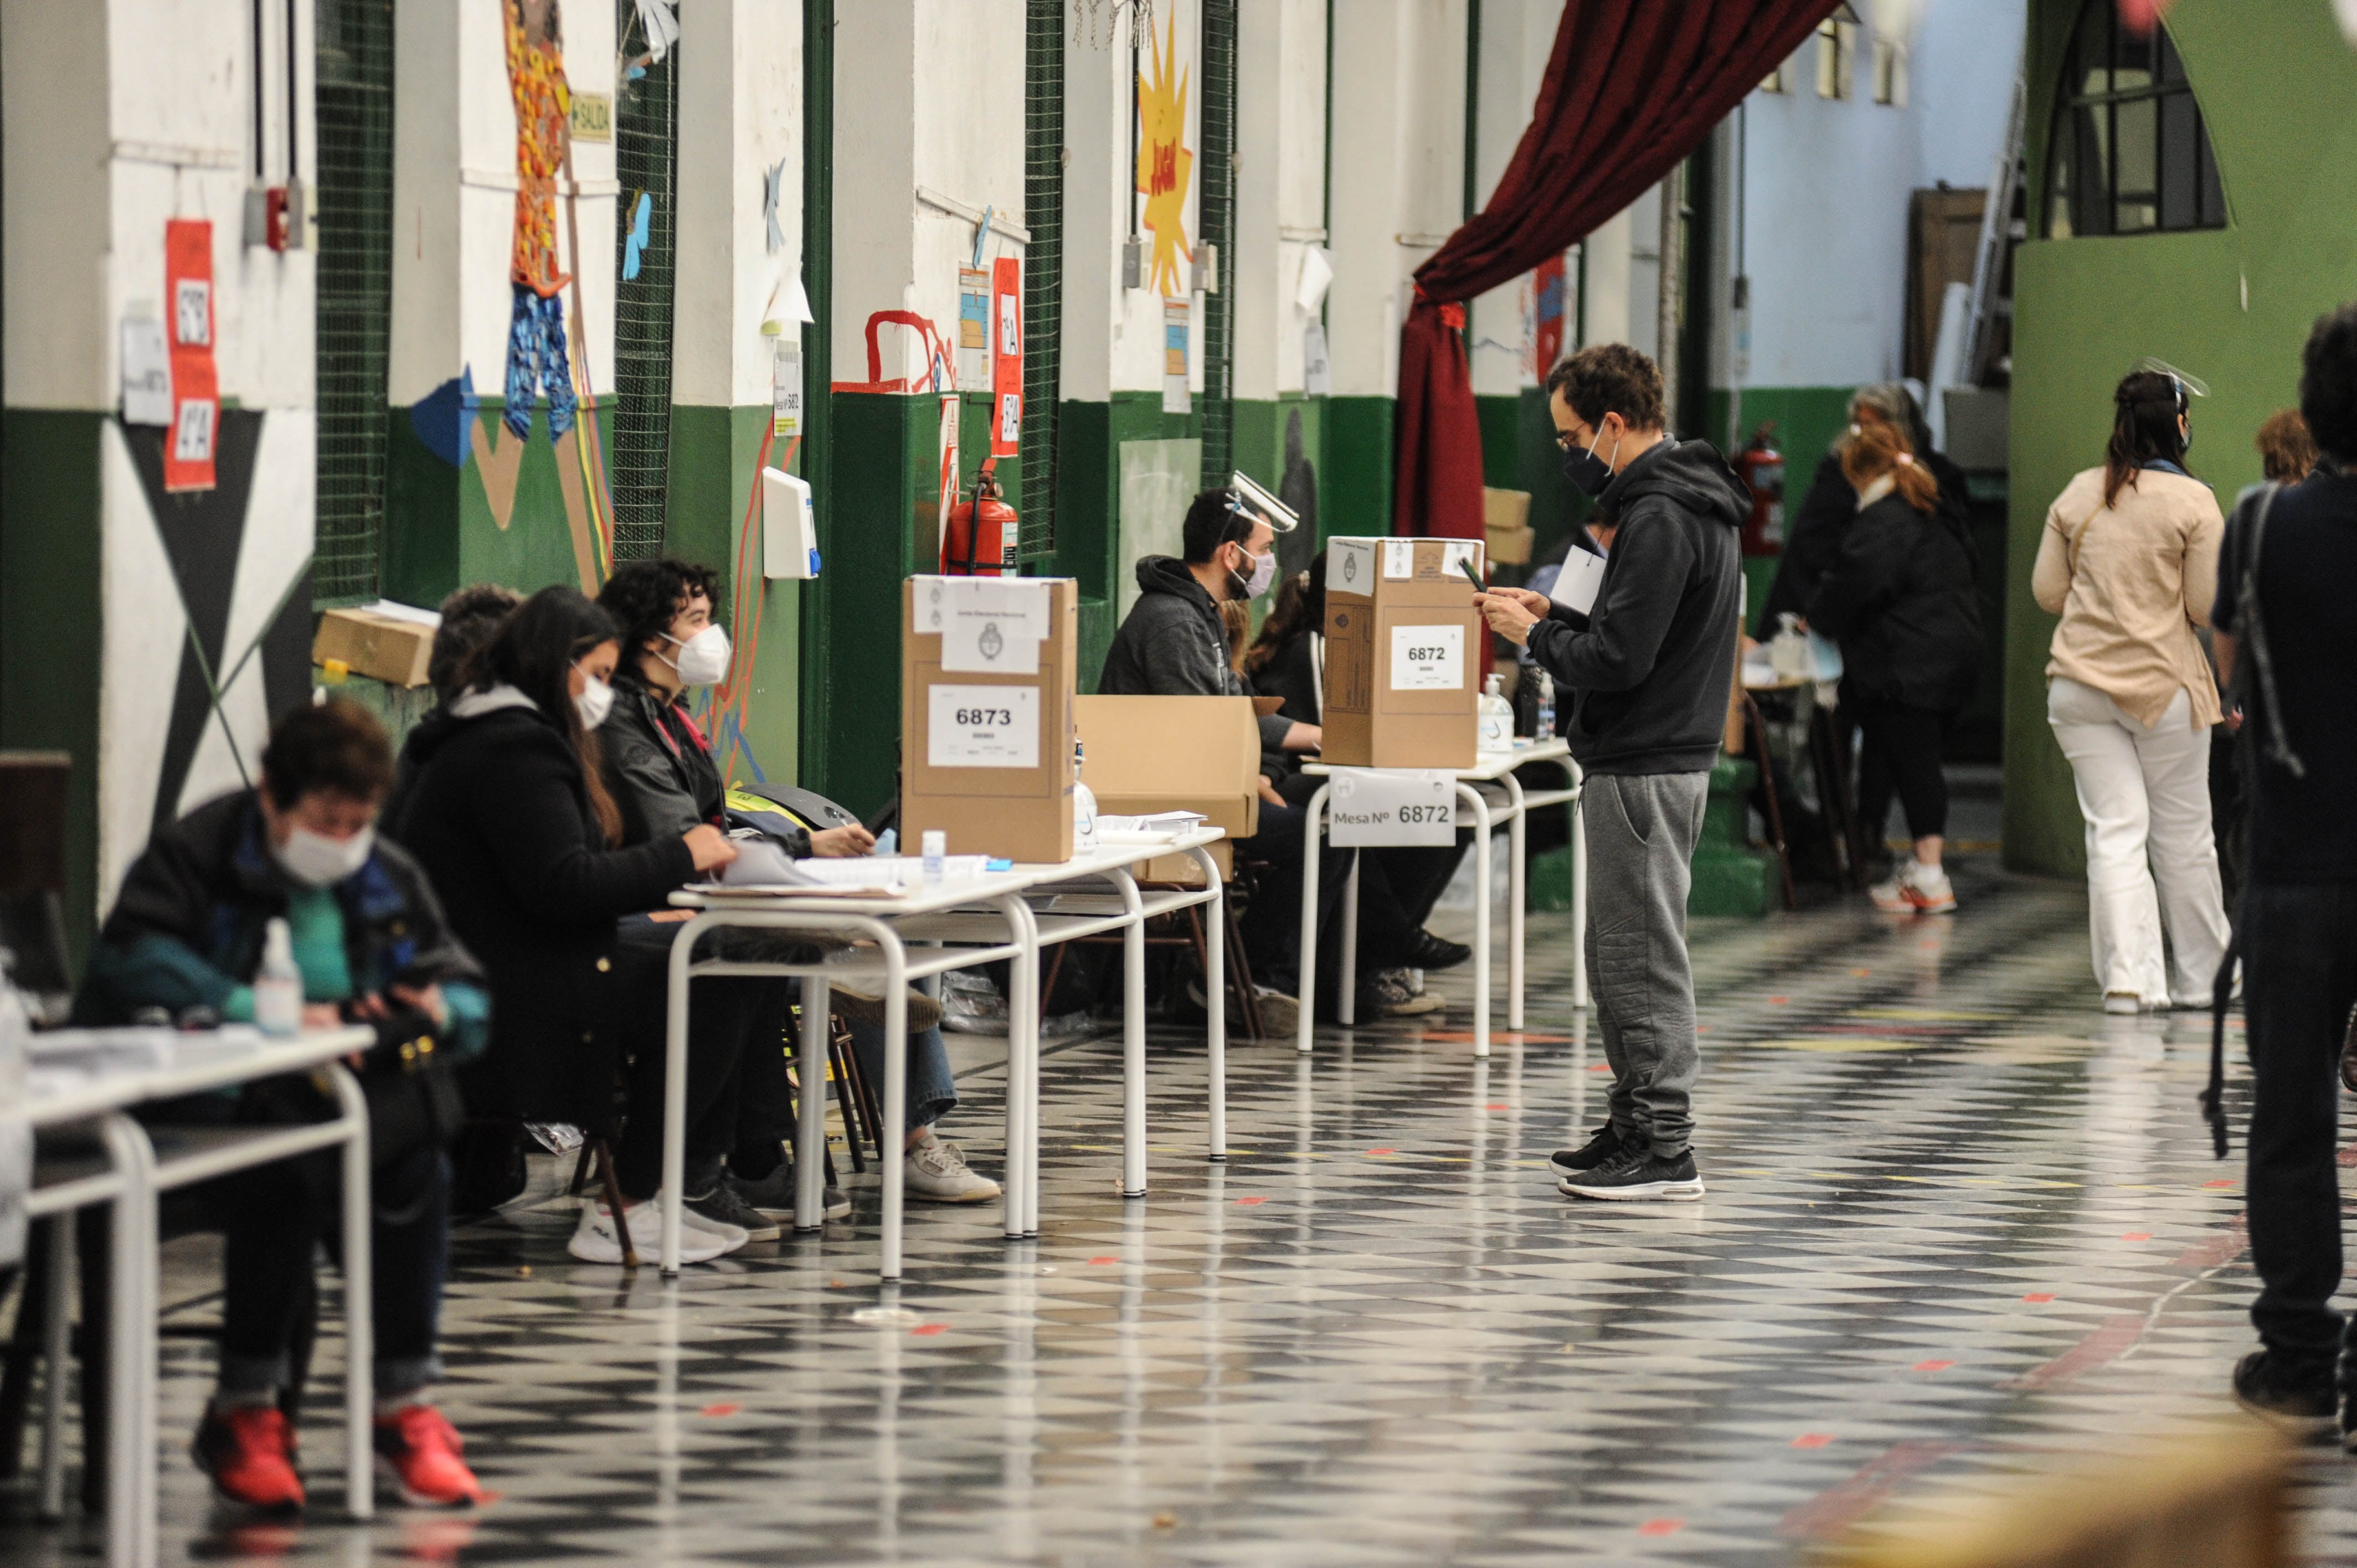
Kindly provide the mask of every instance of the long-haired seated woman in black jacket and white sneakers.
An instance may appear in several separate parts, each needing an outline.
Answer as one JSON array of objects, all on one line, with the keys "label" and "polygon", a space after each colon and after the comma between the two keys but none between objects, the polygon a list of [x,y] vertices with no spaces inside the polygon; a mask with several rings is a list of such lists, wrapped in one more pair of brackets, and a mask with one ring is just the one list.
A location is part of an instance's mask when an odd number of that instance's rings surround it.
[{"label": "long-haired seated woman in black jacket and white sneakers", "polygon": [[[417,773],[384,813],[427,868],[450,927],[490,974],[490,1052],[469,1080],[478,1111],[610,1122],[613,1080],[632,1068],[632,1118],[615,1167],[629,1236],[660,1233],[662,1037],[648,990],[665,976],[627,960],[615,920],[662,908],[672,889],[735,858],[712,825],[622,842],[622,811],[599,773],[596,726],[613,707],[613,618],[570,587],[544,587],[467,665],[464,693],[410,738]],[[691,1259],[745,1240],[688,1219]],[[585,1205],[570,1250],[620,1261],[618,1219]]]}]

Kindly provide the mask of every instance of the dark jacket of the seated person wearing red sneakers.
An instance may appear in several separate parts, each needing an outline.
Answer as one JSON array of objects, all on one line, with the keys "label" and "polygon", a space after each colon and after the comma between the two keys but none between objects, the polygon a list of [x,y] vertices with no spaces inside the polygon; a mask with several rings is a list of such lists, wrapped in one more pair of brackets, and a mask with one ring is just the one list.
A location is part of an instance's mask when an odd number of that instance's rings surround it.
[{"label": "dark jacket of the seated person wearing red sneakers", "polygon": [[[127,1023],[141,1007],[222,1009],[262,967],[262,931],[288,913],[288,882],[262,842],[252,790],[207,802],[132,861],[106,915],[90,974],[73,1000],[82,1026]],[[335,884],[354,995],[403,986],[481,981],[450,934],[424,870],[377,837],[375,854]]]}]

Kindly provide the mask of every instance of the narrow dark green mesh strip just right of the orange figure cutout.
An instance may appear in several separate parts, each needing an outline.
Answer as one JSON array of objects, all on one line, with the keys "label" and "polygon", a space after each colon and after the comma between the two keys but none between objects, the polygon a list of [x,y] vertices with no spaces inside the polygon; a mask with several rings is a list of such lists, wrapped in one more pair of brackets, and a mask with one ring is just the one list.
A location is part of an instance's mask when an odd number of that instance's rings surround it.
[{"label": "narrow dark green mesh strip just right of the orange figure cutout", "polygon": [[[679,45],[646,59],[636,0],[615,2],[625,80],[613,106],[613,559],[662,554],[672,481],[672,262],[679,255]],[[639,207],[646,241],[639,243]]]}]

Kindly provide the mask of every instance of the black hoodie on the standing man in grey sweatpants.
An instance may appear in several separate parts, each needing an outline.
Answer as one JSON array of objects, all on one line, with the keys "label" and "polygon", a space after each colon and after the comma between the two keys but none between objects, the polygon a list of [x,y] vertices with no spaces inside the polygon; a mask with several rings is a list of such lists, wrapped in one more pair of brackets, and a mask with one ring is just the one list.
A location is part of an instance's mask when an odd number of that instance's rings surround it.
[{"label": "black hoodie on the standing man in grey sweatpants", "polygon": [[1709,443],[1664,436],[1596,507],[1619,526],[1596,606],[1556,606],[1530,653],[1574,693],[1563,733],[1584,771],[1704,773],[1728,722],[1751,495]]}]

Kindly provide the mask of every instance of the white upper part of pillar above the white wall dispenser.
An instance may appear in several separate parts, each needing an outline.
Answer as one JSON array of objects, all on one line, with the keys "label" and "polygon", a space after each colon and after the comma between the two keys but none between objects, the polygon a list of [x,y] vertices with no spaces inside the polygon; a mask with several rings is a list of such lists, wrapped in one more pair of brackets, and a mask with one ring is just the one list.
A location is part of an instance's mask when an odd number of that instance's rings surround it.
[{"label": "white upper part of pillar above the white wall dispenser", "polygon": [[[778,229],[768,250],[764,177],[778,163]],[[801,0],[702,0],[681,12],[679,259],[672,401],[768,403],[775,316],[787,342],[787,278],[801,276]]]}]

